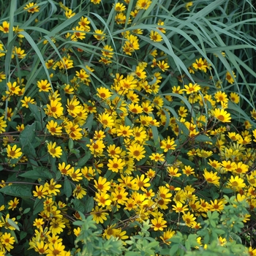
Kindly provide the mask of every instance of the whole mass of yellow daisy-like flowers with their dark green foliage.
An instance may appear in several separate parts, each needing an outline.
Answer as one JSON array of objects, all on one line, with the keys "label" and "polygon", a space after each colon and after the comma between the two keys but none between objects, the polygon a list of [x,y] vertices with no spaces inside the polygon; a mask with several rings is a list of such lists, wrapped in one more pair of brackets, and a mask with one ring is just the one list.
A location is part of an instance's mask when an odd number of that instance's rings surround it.
[{"label": "whole mass of yellow daisy-like flowers with their dark green foliage", "polygon": [[[127,12],[128,3],[113,5],[116,31],[148,10],[151,1],[138,0]],[[192,2],[186,4],[187,11],[191,7]],[[41,8],[30,2],[23,12],[37,14]],[[63,22],[77,15],[62,3],[59,10]],[[26,214],[26,225],[33,227],[23,235],[28,249],[48,256],[71,255],[70,241],[80,234],[72,225],[80,219],[78,211],[92,215],[104,238],[114,236],[124,244],[136,233],[132,223],[147,219],[152,236],[167,246],[178,230],[195,233],[208,211],[222,213],[223,195],[246,200],[248,214],[241,217],[249,223],[256,208],[256,129],[237,114],[238,92],[222,86],[235,83],[236,72],[225,71],[218,80],[211,64],[198,57],[187,67],[195,80],[184,74],[170,83],[170,59],[154,47],[167,31],[160,19],[157,29],[124,30],[115,38],[86,15],[70,24],[68,32],[37,44],[49,50],[43,63],[48,76],[34,71],[29,80],[28,73],[13,70],[7,78],[1,65],[1,83],[8,82],[1,91],[1,159],[7,173],[0,186],[17,186],[15,173],[18,184],[30,186],[31,202],[21,204],[22,195],[6,190],[0,254],[19,243],[13,232],[25,228]],[[22,26],[13,29],[18,36],[13,65],[32,65],[34,52]],[[1,36],[9,32],[10,22],[4,20]],[[8,54],[4,42],[1,63]],[[256,110],[251,115],[256,119]],[[67,235],[72,236],[68,243]],[[225,242],[219,236],[219,244]]]}]

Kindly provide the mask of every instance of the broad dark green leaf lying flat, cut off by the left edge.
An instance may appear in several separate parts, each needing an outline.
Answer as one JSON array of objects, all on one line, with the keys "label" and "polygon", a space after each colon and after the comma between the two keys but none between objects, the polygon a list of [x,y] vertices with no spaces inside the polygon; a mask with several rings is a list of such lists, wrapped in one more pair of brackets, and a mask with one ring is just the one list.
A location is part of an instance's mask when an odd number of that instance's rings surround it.
[{"label": "broad dark green leaf lying flat, cut off by the left edge", "polygon": [[14,197],[29,198],[31,195],[31,185],[29,184],[12,184],[11,186],[2,187],[0,192],[5,195]]}]

